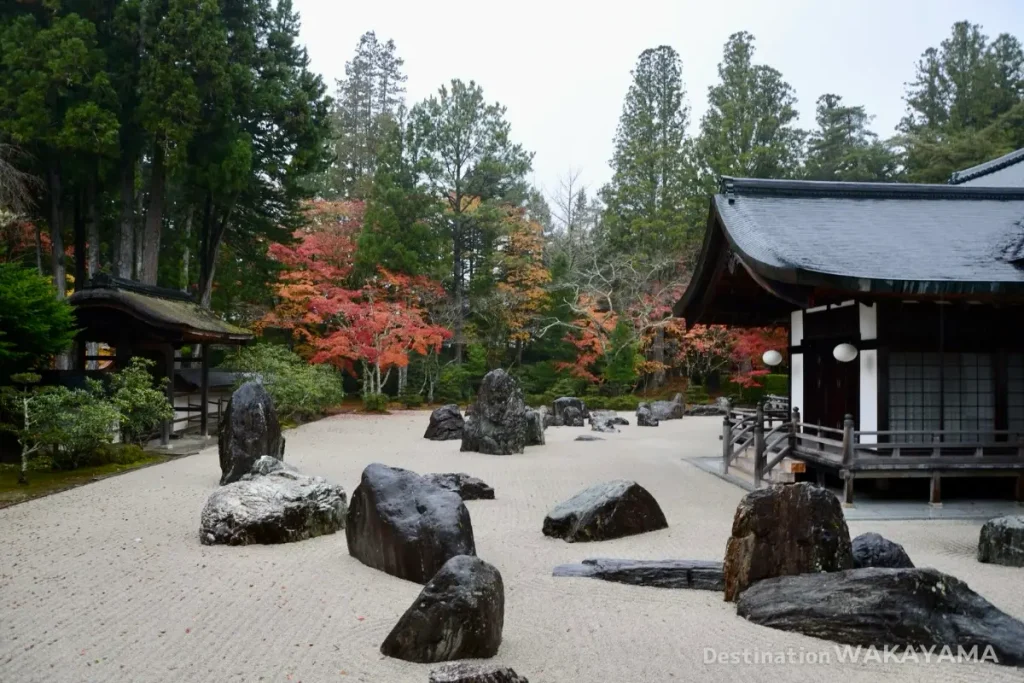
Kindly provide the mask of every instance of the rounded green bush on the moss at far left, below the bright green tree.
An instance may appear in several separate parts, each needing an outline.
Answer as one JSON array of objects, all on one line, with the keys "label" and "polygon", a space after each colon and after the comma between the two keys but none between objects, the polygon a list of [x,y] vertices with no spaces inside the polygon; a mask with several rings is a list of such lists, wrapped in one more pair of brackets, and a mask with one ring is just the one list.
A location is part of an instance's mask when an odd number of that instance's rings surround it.
[{"label": "rounded green bush on the moss at far left, below the bright green tree", "polygon": [[53,468],[70,470],[114,440],[120,413],[98,382],[87,389],[46,387],[34,398],[34,440],[50,453]]}]

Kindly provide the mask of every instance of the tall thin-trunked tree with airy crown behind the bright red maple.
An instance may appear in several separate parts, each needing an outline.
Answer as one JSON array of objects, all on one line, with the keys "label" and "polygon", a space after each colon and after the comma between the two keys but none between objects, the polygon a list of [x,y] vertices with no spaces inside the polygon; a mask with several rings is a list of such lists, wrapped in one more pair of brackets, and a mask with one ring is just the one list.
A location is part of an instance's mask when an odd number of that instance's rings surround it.
[{"label": "tall thin-trunked tree with airy crown behind the bright red maple", "polygon": [[465,345],[467,285],[478,257],[492,256],[500,224],[494,208],[525,199],[532,155],[512,142],[505,108],[488,104],[475,82],[453,80],[411,113],[418,153],[431,189],[445,204],[442,225],[452,245],[451,293],[456,359]]}]

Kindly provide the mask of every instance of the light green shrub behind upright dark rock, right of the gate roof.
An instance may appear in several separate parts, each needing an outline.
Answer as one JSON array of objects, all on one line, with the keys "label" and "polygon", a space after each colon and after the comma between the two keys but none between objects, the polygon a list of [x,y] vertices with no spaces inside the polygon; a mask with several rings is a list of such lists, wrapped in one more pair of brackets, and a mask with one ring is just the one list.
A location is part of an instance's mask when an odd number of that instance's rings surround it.
[{"label": "light green shrub behind upright dark rock, right of the gate roof", "polygon": [[224,368],[258,374],[286,422],[312,420],[345,397],[339,371],[312,365],[279,344],[256,344],[228,357]]}]

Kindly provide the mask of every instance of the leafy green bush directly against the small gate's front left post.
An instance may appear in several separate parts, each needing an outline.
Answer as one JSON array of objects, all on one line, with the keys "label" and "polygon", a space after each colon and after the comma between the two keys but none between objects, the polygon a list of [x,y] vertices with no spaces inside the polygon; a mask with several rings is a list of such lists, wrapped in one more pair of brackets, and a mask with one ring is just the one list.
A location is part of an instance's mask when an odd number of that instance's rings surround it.
[{"label": "leafy green bush directly against the small gate's front left post", "polygon": [[[174,419],[166,389],[153,386],[153,365],[135,357],[127,368],[111,375],[111,400],[121,414],[121,436],[130,443],[145,443],[164,421]],[[166,387],[167,379],[161,382]]]}]

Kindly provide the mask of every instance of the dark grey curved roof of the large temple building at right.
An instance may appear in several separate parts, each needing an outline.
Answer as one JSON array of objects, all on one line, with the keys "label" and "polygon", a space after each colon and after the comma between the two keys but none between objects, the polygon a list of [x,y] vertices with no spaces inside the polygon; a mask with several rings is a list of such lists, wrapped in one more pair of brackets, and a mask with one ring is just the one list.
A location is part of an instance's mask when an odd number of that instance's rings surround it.
[{"label": "dark grey curved roof of the large temple building at right", "polygon": [[920,294],[1024,286],[1024,188],[723,178],[714,208],[733,249],[778,282]]}]

